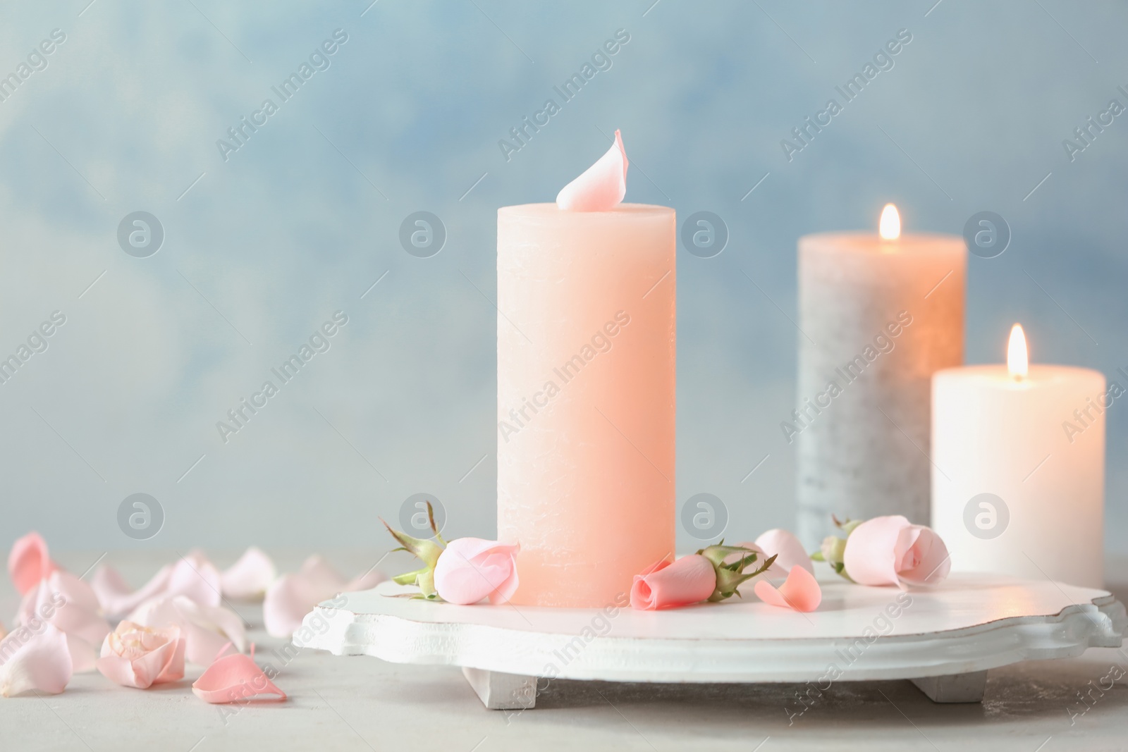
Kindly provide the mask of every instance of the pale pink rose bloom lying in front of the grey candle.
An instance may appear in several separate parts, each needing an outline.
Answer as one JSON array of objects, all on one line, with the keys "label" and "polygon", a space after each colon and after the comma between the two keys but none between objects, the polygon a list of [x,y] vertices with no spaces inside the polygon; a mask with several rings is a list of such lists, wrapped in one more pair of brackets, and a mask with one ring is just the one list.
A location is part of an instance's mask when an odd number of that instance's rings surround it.
[{"label": "pale pink rose bloom lying in front of the grey candle", "polygon": [[846,574],[860,585],[937,585],[952,563],[931,528],[896,514],[866,520],[846,539]]}]

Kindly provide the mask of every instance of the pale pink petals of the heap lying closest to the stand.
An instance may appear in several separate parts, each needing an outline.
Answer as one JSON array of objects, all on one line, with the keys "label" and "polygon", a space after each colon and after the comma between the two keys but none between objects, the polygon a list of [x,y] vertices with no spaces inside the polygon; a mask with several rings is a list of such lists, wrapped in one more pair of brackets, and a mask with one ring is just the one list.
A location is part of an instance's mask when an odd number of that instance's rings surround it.
[{"label": "pale pink petals of the heap lying closest to the stand", "polygon": [[263,622],[271,637],[290,637],[314,607],[342,592],[371,590],[384,582],[376,569],[349,581],[320,556],[311,556],[294,574],[279,577],[266,590]]}]

